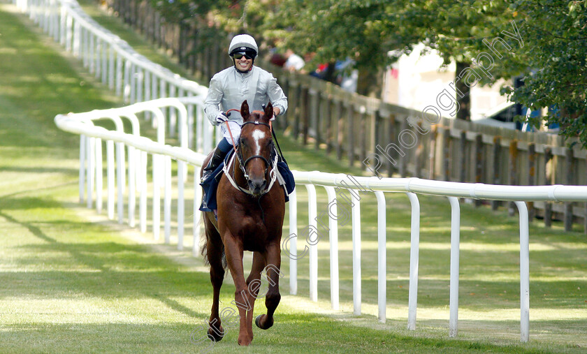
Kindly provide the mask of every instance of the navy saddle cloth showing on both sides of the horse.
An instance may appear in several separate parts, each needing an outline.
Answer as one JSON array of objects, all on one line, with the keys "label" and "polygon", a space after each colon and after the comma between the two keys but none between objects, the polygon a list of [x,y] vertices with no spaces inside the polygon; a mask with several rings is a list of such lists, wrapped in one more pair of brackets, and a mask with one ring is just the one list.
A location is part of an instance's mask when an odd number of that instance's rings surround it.
[{"label": "navy saddle cloth showing on both sides of the horse", "polygon": [[[212,175],[208,176],[208,178],[204,179],[200,185],[204,191],[204,196],[202,198],[202,205],[200,205],[201,212],[212,212],[215,209],[218,209],[216,203],[216,190],[218,189],[218,182],[220,182],[220,177],[222,177],[222,169],[224,168],[224,164],[228,163],[229,158],[231,158],[234,150],[231,150],[229,154],[226,155],[224,158],[224,162],[220,163],[218,168],[212,172]],[[293,192],[293,189],[296,188],[296,181],[293,179],[293,174],[291,170],[289,170],[289,166],[285,161],[280,158],[277,161],[277,171],[282,176],[285,182],[285,201],[289,202],[289,193]],[[276,181],[279,183],[279,178]]]}]

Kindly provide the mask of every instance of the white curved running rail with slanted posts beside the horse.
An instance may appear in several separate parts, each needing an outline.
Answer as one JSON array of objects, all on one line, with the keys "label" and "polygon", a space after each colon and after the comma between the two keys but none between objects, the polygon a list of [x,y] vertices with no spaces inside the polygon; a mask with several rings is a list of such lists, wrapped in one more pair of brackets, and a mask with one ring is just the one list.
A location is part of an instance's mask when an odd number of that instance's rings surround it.
[{"label": "white curved running rail with slanted posts beside the horse", "polygon": [[[199,102],[201,103],[201,101]],[[150,111],[154,117],[160,117],[168,107],[174,107],[180,116],[180,136],[184,136],[189,117],[184,117],[185,112],[193,112],[188,108],[181,109],[182,105],[197,105],[198,98],[164,98],[143,103],[136,103],[125,108],[111,110],[94,110],[92,112],[57,115],[55,123],[59,128],[71,133],[81,135],[80,139],[80,200],[87,196],[87,205],[92,207],[94,194],[96,195],[96,209],[100,210],[101,200],[101,149],[102,140],[107,147],[107,176],[108,176],[108,210],[115,199],[114,176],[117,175],[117,191],[119,214],[118,220],[122,222],[124,215],[123,193],[124,181],[128,181],[128,217],[127,220],[133,226],[134,214],[134,189],[139,193],[139,227],[142,232],[146,230],[146,202],[147,202],[147,155],[152,156],[152,205],[153,205],[153,233],[159,237],[159,198],[160,189],[164,189],[164,230],[165,241],[169,242],[171,233],[171,196],[177,194],[177,248],[183,248],[184,235],[184,178],[187,173],[187,165],[194,165],[194,210],[199,207],[201,201],[201,188],[198,186],[199,170],[205,156],[193,152],[185,144],[180,147],[164,145],[164,140],[154,142],[148,138],[133,133],[122,131],[107,131],[105,128],[94,126],[96,119],[108,118],[118,121],[122,117],[136,115],[138,112]],[[161,119],[161,118],[159,118]],[[165,121],[161,119],[160,121]],[[159,133],[161,134],[161,133]],[[117,146],[116,166],[114,164],[114,149]],[[124,161],[124,146],[128,148],[129,161]],[[171,188],[171,159],[177,160],[177,190]],[[308,191],[308,210],[310,229],[308,233],[316,233],[320,215],[328,217],[328,238],[330,240],[331,259],[331,304],[333,309],[339,307],[338,297],[338,221],[340,217],[340,205],[338,201],[348,200],[352,205],[352,244],[353,244],[353,304],[354,314],[361,314],[361,193],[374,193],[377,199],[377,237],[378,251],[378,306],[379,320],[385,322],[386,315],[386,201],[384,193],[406,193],[412,205],[412,228],[410,246],[410,293],[408,298],[408,328],[416,328],[416,304],[418,291],[418,265],[419,265],[419,236],[420,236],[420,209],[418,194],[445,196],[449,199],[452,211],[451,217],[451,265],[450,265],[450,318],[449,336],[457,334],[458,319],[458,255],[460,237],[460,208],[458,198],[473,198],[481,200],[512,200],[519,209],[520,219],[520,323],[521,341],[528,341],[529,337],[529,310],[530,310],[530,283],[529,283],[529,245],[528,245],[528,211],[525,201],[586,201],[587,186],[501,186],[490,184],[470,184],[456,182],[440,182],[418,178],[382,178],[356,177],[344,174],[330,174],[324,172],[293,171],[297,188],[305,186]],[[127,176],[125,179],[124,176]],[[316,186],[326,189],[328,210],[318,214]],[[101,202],[100,202],[101,203]],[[338,208],[337,209],[337,205]],[[297,292],[297,260],[309,255],[310,262],[310,299],[317,301],[317,240],[310,242],[310,246],[298,255],[296,245],[297,225],[296,192],[290,195],[289,202],[289,237],[283,237],[289,241],[290,257],[290,293]],[[111,216],[110,212],[108,213]],[[200,220],[200,213],[194,213],[194,226]],[[334,217],[332,217],[334,216]],[[313,230],[313,231],[312,231]],[[201,235],[198,228],[193,228],[194,243],[192,250],[196,255],[196,248]],[[311,238],[310,238],[311,239]],[[317,239],[317,237],[314,237]],[[307,247],[307,246],[306,246]]]}]

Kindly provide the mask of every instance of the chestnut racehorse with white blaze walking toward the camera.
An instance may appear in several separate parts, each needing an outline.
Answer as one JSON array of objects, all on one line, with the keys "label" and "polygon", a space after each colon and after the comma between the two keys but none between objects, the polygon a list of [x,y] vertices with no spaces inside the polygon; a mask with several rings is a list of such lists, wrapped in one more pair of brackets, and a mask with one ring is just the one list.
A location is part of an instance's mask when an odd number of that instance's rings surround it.
[{"label": "chestnut racehorse with white blaze walking toward the camera", "polygon": [[[253,309],[263,270],[266,270],[269,283],[265,295],[267,314],[255,319],[257,327],[267,330],[273,325],[273,313],[281,299],[280,243],[285,196],[283,187],[274,183],[277,165],[269,125],[273,106],[269,103],[264,112],[249,113],[249,105],[244,101],[240,114],[243,119],[240,139],[235,154],[226,163],[216,193],[217,221],[212,212],[204,213],[206,239],[202,253],[210,263],[210,281],[214,288],[208,337],[213,341],[224,337],[218,301],[224,270],[228,266],[235,285],[233,304],[238,307],[240,316],[238,344],[248,346],[253,339]],[[209,159],[210,156],[204,165]],[[253,252],[253,265],[246,281],[242,269],[243,251]]]}]

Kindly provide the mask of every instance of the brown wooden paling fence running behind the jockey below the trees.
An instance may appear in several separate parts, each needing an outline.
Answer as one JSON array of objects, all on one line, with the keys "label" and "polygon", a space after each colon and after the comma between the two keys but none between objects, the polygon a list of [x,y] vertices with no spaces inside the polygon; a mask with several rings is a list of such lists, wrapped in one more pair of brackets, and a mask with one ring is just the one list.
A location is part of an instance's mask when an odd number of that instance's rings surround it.
[{"label": "brown wooden paling fence running behind the jockey below the trees", "polygon": [[[106,0],[106,6],[177,57],[202,82],[232,65],[226,54],[229,38],[210,40],[187,24],[166,22],[145,0]],[[195,50],[203,43],[207,50]],[[428,126],[426,119],[436,119],[421,111],[352,94],[330,82],[284,71],[261,58],[256,64],[273,73],[288,96],[289,110],[276,121],[279,128],[349,165],[365,163],[382,175],[454,182],[587,184],[587,151],[580,145],[567,147],[558,135],[444,117]],[[430,97],[431,105],[435,101],[436,97]],[[491,207],[500,204],[491,202]],[[506,207],[514,212],[511,203]],[[530,220],[542,218],[546,226],[562,220],[565,230],[582,222],[587,234],[587,203],[535,202],[529,207]]]}]

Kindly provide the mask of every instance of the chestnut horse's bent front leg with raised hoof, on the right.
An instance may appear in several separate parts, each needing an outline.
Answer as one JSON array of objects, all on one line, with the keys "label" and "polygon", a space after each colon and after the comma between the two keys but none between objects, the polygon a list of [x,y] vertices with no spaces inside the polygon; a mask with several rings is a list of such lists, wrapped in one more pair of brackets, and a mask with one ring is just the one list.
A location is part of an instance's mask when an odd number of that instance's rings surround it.
[{"label": "chestnut horse's bent front leg with raised hoof, on the right", "polygon": [[281,269],[281,253],[280,242],[270,244],[267,249],[267,265],[265,272],[269,282],[269,290],[265,295],[265,307],[267,307],[266,315],[259,315],[255,318],[255,324],[261,330],[267,330],[273,325],[273,314],[277,305],[280,304],[280,269]]}]

